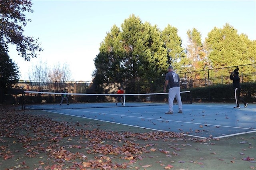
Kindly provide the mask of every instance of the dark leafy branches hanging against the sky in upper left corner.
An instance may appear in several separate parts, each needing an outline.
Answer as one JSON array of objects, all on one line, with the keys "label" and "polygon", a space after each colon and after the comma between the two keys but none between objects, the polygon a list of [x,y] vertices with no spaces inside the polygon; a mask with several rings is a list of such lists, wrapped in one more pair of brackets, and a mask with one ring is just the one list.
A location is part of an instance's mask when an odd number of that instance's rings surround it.
[{"label": "dark leafy branches hanging against the sky in upper left corner", "polygon": [[42,51],[37,40],[23,35],[23,27],[30,19],[26,19],[24,12],[33,12],[30,0],[1,0],[0,1],[0,41],[5,49],[8,43],[16,45],[16,50],[25,60],[37,57],[36,51]]}]

